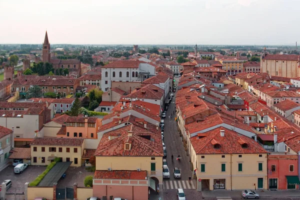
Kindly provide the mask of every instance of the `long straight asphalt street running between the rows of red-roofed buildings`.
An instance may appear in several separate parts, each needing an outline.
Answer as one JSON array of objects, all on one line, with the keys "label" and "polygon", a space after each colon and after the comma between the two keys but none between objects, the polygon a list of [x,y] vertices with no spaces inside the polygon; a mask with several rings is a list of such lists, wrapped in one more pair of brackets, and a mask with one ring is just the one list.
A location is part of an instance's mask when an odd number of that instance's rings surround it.
[{"label": "long straight asphalt street running between the rows of red-roofed buildings", "polygon": [[[175,78],[175,83],[178,84],[177,78]],[[166,188],[165,181],[181,180],[181,184],[182,184],[182,180],[188,180],[188,176],[192,176],[192,171],[190,170],[190,162],[188,161],[188,156],[186,155],[186,151],[184,151],[182,139],[179,136],[179,132],[177,130],[177,125],[174,117],[176,92],[174,93],[174,97],[172,98],[172,101],[169,103],[168,110],[166,111],[166,117],[164,118],[164,144],[166,146],[166,151],[167,151],[166,160],[167,160],[167,166],[170,170],[170,178],[164,178],[163,190],[171,189],[170,187]],[[171,160],[172,154],[174,156],[173,161]],[[180,155],[181,157],[179,161],[176,160],[176,157],[178,155]],[[181,179],[174,178],[173,176],[174,167],[180,168]],[[194,181],[194,186],[195,186],[195,181]],[[190,187],[192,188],[191,185]],[[175,189],[175,187],[173,187],[172,189]]]}]

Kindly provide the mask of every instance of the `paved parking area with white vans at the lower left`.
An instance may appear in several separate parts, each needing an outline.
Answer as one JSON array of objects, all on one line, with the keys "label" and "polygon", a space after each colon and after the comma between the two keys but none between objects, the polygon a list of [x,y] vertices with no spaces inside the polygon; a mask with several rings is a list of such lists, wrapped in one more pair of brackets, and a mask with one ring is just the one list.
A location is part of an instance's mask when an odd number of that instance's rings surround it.
[{"label": "paved parking area with white vans at the lower left", "polygon": [[34,180],[40,173],[42,173],[46,167],[45,166],[31,166],[28,167],[20,174],[15,174],[13,172],[12,165],[7,166],[3,170],[0,171],[0,181],[10,179],[12,182],[12,186],[7,190],[15,190],[16,188],[23,188],[25,182],[30,182]]}]

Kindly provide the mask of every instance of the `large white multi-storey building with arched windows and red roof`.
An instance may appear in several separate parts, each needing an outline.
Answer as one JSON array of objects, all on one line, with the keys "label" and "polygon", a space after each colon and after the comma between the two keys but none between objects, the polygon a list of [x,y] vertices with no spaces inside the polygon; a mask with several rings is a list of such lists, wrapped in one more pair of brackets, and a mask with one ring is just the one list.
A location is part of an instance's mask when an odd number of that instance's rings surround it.
[{"label": "large white multi-storey building with arched windows and red roof", "polygon": [[112,81],[143,81],[155,75],[155,66],[139,60],[117,60],[101,67],[101,90],[108,91]]}]

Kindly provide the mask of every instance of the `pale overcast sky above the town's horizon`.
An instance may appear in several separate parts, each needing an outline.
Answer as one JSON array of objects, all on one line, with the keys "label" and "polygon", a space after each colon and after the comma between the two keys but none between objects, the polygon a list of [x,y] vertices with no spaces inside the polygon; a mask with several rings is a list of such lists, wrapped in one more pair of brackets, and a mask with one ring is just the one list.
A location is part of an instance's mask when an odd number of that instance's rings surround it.
[{"label": "pale overcast sky above the town's horizon", "polygon": [[289,44],[300,0],[0,0],[0,43]]}]

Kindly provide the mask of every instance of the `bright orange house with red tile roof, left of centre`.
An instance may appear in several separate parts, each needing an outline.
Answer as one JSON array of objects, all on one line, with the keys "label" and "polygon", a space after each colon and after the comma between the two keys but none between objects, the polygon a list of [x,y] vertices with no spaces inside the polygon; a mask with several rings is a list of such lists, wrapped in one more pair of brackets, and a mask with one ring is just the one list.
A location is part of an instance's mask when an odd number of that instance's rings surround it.
[{"label": "bright orange house with red tile roof, left of centre", "polygon": [[[101,119],[97,117],[69,116],[65,126],[61,127],[59,137],[82,137],[97,139],[97,132],[100,128]],[[63,130],[65,129],[65,130]]]}]

